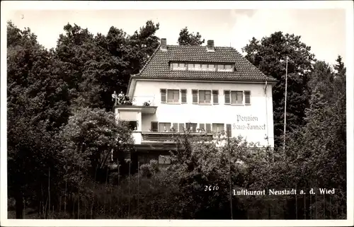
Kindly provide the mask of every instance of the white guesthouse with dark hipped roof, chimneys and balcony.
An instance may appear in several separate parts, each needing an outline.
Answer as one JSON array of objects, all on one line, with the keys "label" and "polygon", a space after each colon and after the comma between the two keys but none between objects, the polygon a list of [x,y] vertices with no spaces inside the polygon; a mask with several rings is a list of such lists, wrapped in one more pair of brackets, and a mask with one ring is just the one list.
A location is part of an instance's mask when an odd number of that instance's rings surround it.
[{"label": "white guesthouse with dark hipped roof, chimneys and balcony", "polygon": [[232,47],[215,47],[213,40],[207,46],[166,45],[161,39],[147,64],[130,78],[132,105],[115,105],[115,114],[136,127],[141,163],[169,151],[169,138],[183,129],[210,136],[231,132],[274,146],[275,82]]}]

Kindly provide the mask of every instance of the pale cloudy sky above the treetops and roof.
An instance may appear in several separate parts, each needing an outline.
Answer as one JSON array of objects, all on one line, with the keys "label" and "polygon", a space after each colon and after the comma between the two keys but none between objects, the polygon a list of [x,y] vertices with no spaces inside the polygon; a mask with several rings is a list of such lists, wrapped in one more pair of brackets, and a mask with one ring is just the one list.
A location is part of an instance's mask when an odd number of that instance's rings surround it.
[{"label": "pale cloudy sky above the treetops and roof", "polygon": [[199,32],[202,38],[214,40],[215,46],[232,46],[241,52],[252,37],[261,40],[277,31],[301,35],[312,47],[316,59],[331,64],[340,54],[346,59],[346,10],[341,8],[280,8],[280,9],[187,9],[187,10],[28,10],[8,11],[7,20],[18,27],[30,28],[40,44],[55,47],[67,23],[88,28],[93,34],[108,33],[111,26],[127,34],[139,30],[146,21],[160,24],[156,35],[176,45],[182,28]]}]

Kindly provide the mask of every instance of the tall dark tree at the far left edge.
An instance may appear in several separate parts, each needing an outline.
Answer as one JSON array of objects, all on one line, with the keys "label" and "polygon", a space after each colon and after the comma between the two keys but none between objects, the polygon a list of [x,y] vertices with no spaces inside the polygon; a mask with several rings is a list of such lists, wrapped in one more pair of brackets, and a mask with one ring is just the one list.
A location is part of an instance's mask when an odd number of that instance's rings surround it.
[{"label": "tall dark tree at the far left edge", "polygon": [[40,201],[48,175],[56,179],[52,186],[60,179],[53,138],[69,117],[69,93],[60,79],[66,70],[53,52],[29,28],[8,22],[7,29],[8,195],[16,199],[21,219],[23,202]]}]

